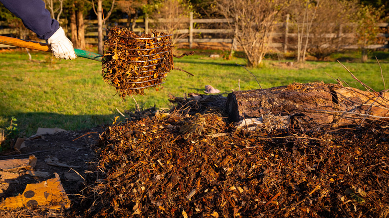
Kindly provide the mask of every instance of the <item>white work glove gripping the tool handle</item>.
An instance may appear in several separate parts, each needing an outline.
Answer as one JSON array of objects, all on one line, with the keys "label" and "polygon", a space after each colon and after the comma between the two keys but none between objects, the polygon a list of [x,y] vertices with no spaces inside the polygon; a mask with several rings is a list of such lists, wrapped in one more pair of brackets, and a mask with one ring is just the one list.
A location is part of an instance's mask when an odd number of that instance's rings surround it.
[{"label": "white work glove gripping the tool handle", "polygon": [[47,39],[47,43],[51,45],[51,51],[56,58],[63,59],[75,59],[76,53],[74,53],[73,43],[66,37],[65,31],[62,27]]}]

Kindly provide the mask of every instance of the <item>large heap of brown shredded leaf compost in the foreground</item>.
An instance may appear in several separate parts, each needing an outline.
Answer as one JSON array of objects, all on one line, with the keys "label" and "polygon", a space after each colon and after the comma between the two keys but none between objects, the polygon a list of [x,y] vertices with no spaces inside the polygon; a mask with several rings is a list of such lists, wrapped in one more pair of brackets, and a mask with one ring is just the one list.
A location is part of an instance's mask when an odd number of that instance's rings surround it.
[{"label": "large heap of brown shredded leaf compost in the foreground", "polygon": [[389,216],[388,129],[249,131],[200,100],[106,129],[85,216]]}]

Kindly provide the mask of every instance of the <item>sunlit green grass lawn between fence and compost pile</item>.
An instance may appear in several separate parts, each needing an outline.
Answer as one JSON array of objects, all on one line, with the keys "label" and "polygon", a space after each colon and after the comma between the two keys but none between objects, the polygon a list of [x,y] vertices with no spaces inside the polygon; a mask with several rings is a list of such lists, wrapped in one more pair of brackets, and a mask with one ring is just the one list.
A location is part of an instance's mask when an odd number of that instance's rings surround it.
[{"label": "sunlit green grass lawn between fence and compost pile", "polygon": [[[184,52],[177,51],[178,54]],[[186,93],[203,93],[205,85],[212,85],[221,92],[259,88],[255,78],[243,67],[243,58],[211,59],[209,54],[218,51],[196,51],[193,56],[175,58],[175,66],[189,71],[174,70],[160,91],[146,91],[135,96],[143,108],[170,107],[168,95],[183,96]],[[17,119],[18,128],[29,136],[38,127],[58,127],[68,130],[91,128],[112,123],[119,115],[116,109],[134,110],[131,97],[122,100],[113,87],[101,77],[101,63],[84,58],[51,61],[50,54],[31,52],[33,61],[23,51],[0,53],[0,127],[9,125],[10,117]],[[238,55],[239,56],[239,55]],[[389,79],[389,53],[372,54],[380,60],[384,78]],[[336,54],[332,58],[342,63],[361,81],[377,91],[384,89],[380,67],[375,59],[358,63],[356,54]],[[344,62],[343,62],[344,61]],[[356,63],[348,63],[357,61]],[[335,83],[327,74],[341,78],[349,85],[362,88],[337,62],[307,62],[304,66],[288,67],[285,60],[265,60],[262,68],[248,69],[262,88],[288,85],[293,82],[308,83],[324,81]],[[389,81],[389,80],[388,80]],[[389,82],[387,88],[389,87]]]}]

